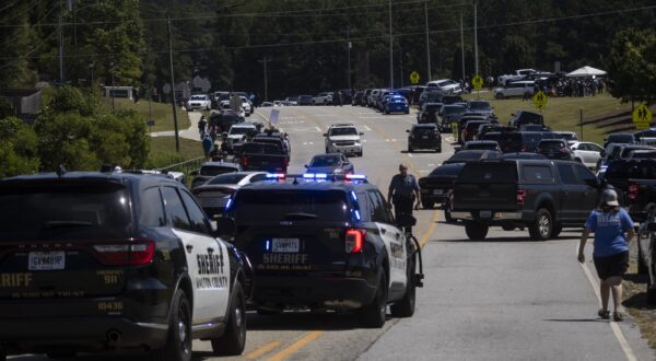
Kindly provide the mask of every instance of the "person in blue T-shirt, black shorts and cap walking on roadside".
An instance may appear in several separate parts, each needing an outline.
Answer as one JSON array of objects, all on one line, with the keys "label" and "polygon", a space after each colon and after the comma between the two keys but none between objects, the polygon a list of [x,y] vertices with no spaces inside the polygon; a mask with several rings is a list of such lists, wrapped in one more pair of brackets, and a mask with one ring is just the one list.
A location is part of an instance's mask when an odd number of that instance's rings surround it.
[{"label": "person in blue T-shirt, black shorts and cap walking on roadside", "polygon": [[612,291],[614,302],[613,319],[624,319],[622,314],[622,279],[629,268],[629,242],[635,236],[633,221],[620,208],[618,194],[606,189],[601,194],[598,209],[591,211],[578,244],[578,261],[585,261],[583,249],[590,232],[595,233],[593,259],[600,280],[601,310],[597,313],[604,319],[610,318],[608,301]]}]

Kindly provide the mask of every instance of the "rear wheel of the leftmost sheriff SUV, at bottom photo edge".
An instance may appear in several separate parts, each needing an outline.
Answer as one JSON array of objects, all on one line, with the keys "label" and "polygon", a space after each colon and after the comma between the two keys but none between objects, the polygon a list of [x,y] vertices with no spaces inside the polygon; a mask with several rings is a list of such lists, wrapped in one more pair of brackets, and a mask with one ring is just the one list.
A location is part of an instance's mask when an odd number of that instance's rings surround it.
[{"label": "rear wheel of the leftmost sheriff SUV, at bottom photo edge", "polygon": [[[173,314],[168,325],[166,345],[153,351],[153,360],[191,360],[191,305],[185,291],[177,290],[173,295]],[[180,328],[184,328],[180,329]],[[184,333],[184,335],[183,335]],[[183,339],[184,338],[184,339]]]}]

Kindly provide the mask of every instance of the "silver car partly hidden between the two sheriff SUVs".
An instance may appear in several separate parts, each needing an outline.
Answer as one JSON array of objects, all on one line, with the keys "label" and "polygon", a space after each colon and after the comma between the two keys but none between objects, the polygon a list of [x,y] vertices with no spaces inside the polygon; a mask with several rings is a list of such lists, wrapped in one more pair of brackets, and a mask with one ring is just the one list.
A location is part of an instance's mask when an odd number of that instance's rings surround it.
[{"label": "silver car partly hidden between the two sheriff SUVs", "polygon": [[267,179],[265,172],[234,172],[210,178],[191,193],[210,219],[223,214],[225,206],[237,189],[249,183]]}]

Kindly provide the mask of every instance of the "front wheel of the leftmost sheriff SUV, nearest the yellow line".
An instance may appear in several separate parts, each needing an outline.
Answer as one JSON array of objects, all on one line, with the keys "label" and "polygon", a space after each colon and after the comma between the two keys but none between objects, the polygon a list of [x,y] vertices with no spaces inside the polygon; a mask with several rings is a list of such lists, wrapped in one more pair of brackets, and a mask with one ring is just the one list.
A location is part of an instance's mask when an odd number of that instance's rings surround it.
[{"label": "front wheel of the leftmost sheriff SUV, nearest the yellow line", "polygon": [[212,339],[212,351],[220,356],[237,356],[246,346],[246,298],[242,283],[235,281],[225,333]]}]

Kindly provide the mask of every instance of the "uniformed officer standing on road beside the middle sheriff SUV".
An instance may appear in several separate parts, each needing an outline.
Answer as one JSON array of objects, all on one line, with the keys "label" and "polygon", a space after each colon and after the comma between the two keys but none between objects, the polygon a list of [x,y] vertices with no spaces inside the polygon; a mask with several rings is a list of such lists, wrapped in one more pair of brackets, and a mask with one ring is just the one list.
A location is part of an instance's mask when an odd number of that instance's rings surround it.
[{"label": "uniformed officer standing on road beside the middle sheriff SUV", "polygon": [[419,209],[419,184],[412,174],[408,174],[406,164],[399,164],[399,174],[391,177],[387,201],[390,207],[394,203],[397,222],[405,216],[412,216],[412,203],[414,209]]}]

